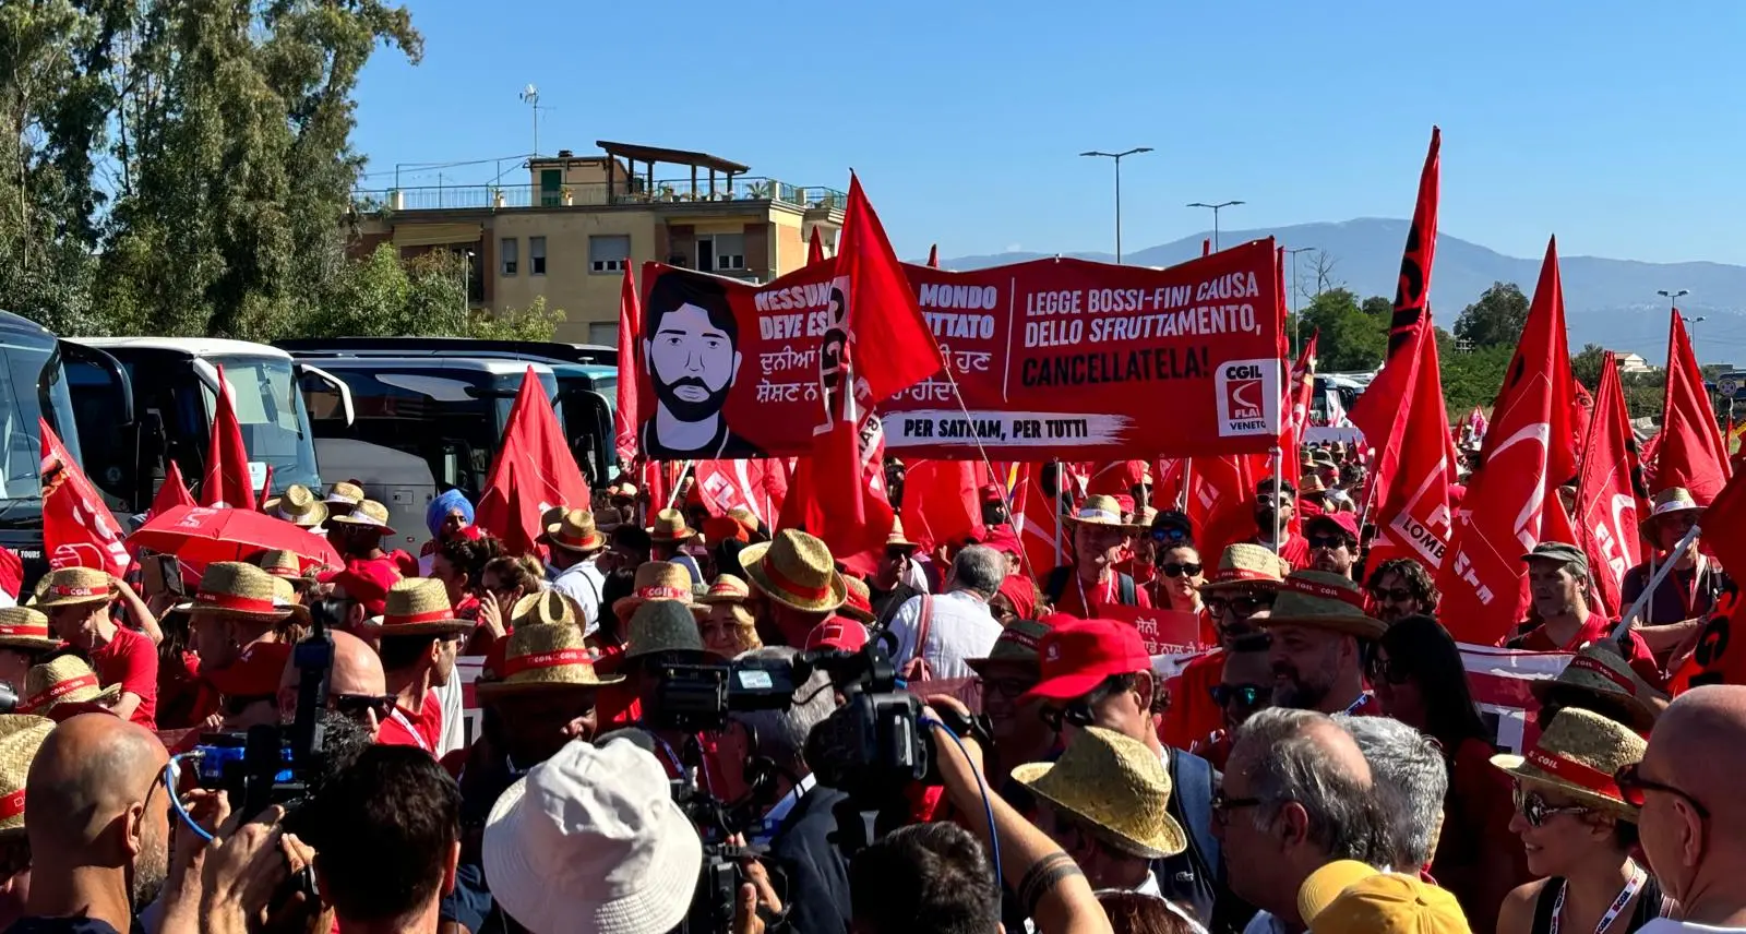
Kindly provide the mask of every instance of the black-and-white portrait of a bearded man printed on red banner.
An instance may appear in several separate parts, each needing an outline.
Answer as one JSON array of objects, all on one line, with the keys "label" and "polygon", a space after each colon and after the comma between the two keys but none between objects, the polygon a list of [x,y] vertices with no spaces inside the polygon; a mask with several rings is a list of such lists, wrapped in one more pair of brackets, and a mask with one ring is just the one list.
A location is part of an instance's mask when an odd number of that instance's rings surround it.
[{"label": "black-and-white portrait of a bearded man printed on red banner", "polygon": [[637,435],[656,459],[761,457],[728,429],[721,407],[740,372],[740,326],[723,285],[674,271],[650,288],[644,370],[655,382],[655,417]]}]

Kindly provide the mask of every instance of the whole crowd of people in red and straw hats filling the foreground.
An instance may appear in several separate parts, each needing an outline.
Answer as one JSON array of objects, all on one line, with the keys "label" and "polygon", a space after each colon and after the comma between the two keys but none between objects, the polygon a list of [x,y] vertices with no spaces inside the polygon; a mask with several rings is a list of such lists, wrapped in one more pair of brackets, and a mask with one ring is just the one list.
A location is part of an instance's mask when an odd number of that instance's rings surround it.
[{"label": "whole crowd of people in red and straw hats filling the foreground", "polygon": [[[1667,695],[1732,587],[1701,543],[1667,553],[1701,513],[1690,494],[1655,498],[1643,536],[1674,571],[1622,639],[1591,609],[1582,548],[1521,555],[1531,611],[1510,646],[1573,660],[1533,684],[1517,754],[1437,623],[1432,574],[1367,567],[1362,468],[1306,449],[1301,475],[1259,484],[1252,534],[1203,555],[1145,480],[1079,496],[1056,470],[1060,567],[1027,566],[993,487],[986,534],[922,548],[897,525],[864,576],[803,531],[623,482],[552,508],[527,553],[445,492],[417,557],[384,546],[389,512],[361,484],[292,487],[264,512],[342,566],[61,567],[0,609],[0,924],[1746,931],[1729,883],[1746,688]],[[890,480],[901,498],[901,464]],[[1116,606],[1193,615],[1208,651],[1170,667]],[[225,737],[295,719],[318,623],[320,763],[243,814],[208,766]],[[932,782],[885,789],[859,840],[843,822],[863,791],[836,780],[854,688],[807,662],[870,642],[924,702]],[[461,656],[482,658],[477,730]],[[676,697],[728,691],[697,681],[726,662],[746,665],[735,688],[800,683],[789,704],[677,716]],[[705,904],[723,873],[728,904]]]}]

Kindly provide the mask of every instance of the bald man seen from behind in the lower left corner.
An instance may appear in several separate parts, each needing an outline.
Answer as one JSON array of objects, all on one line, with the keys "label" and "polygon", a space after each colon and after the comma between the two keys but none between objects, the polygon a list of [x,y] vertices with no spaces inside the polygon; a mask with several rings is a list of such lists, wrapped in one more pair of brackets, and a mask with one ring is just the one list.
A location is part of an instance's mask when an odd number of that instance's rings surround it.
[{"label": "bald man seen from behind in the lower left corner", "polygon": [[107,712],[49,733],[30,765],[30,897],[12,931],[133,927],[169,869],[168,761],[155,735]]}]

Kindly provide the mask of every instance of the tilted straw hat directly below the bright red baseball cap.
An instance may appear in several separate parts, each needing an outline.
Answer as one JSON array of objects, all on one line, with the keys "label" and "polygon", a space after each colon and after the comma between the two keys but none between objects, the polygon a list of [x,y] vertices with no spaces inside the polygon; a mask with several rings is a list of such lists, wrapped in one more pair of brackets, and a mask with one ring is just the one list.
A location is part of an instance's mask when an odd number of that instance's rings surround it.
[{"label": "tilted straw hat directly below the bright red baseball cap", "polygon": [[1013,779],[1130,855],[1161,859],[1187,848],[1166,810],[1170,773],[1144,742],[1086,726],[1060,759],[1021,765]]}]

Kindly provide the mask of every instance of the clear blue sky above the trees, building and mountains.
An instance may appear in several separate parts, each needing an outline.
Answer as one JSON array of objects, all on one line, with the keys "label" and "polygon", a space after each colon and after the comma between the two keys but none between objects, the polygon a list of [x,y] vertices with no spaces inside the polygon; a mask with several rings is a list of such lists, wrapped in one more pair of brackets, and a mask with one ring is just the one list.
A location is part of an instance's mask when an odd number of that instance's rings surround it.
[{"label": "clear blue sky above the trees, building and mountains", "polygon": [[534,82],[541,152],[639,141],[836,189],[854,166],[904,257],[1110,250],[1109,162],[1076,154],[1149,145],[1123,166],[1131,251],[1206,229],[1189,201],[1247,201],[1231,229],[1407,216],[1435,122],[1447,234],[1746,264],[1737,2],[410,7],[423,65],[382,51],[358,91],[370,187],[526,154]]}]

